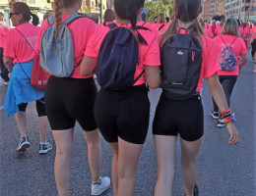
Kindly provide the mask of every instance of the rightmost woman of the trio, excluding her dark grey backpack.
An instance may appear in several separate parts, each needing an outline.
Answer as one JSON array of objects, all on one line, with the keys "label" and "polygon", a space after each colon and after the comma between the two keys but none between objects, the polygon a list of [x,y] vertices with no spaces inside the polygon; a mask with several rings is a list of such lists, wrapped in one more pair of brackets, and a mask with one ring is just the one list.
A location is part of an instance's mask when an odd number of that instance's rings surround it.
[{"label": "rightmost woman of the trio, excluding her dark grey backpack", "polygon": [[[162,57],[164,54],[163,46],[165,43],[170,44],[170,42],[167,41],[174,39],[172,39],[172,35],[176,35],[177,33],[191,33],[191,31],[193,33],[196,32],[196,37],[198,38],[197,42],[199,46],[201,45],[202,51],[201,54],[197,53],[198,55],[192,51],[191,62],[202,57],[202,65],[200,75],[194,75],[199,77],[199,80],[195,92],[191,93],[191,98],[184,100],[171,99],[167,96],[167,88],[164,87],[166,85],[164,85],[165,82],[163,83],[163,78],[162,93],[153,123],[154,141],[158,160],[158,180],[155,189],[155,196],[171,195],[171,185],[174,176],[175,146],[178,134],[180,136],[181,166],[183,170],[185,195],[199,195],[198,187],[195,184],[197,181],[197,156],[200,151],[204,134],[204,112],[199,93],[202,89],[203,77],[208,80],[210,91],[218,103],[220,110],[223,111],[224,114],[227,114],[229,111],[224,98],[224,91],[217,74],[220,70],[220,66],[217,62],[217,53],[215,52],[216,45],[211,38],[204,35],[203,29],[197,21],[198,15],[201,11],[201,0],[174,0],[174,19],[171,25],[162,34],[160,41]],[[177,31],[178,28],[179,31]],[[180,43],[182,43],[182,41],[180,41]],[[170,45],[167,46],[170,47]],[[176,48],[173,49],[173,51],[175,50]],[[181,52],[182,49],[179,50],[180,51],[178,53],[172,53],[175,55],[183,55],[184,53]],[[165,52],[165,55],[167,56],[167,52]],[[167,58],[166,56],[164,57]],[[181,58],[177,57],[176,61],[179,61],[179,59]],[[173,65],[170,59],[169,61],[163,60],[164,58],[161,59],[163,65],[162,73],[164,75],[164,69],[167,70],[168,67],[173,68],[176,63],[173,63]],[[188,67],[186,64],[181,65],[180,68],[184,69]],[[186,71],[184,70],[184,72]],[[180,73],[180,75],[175,74],[173,77],[177,77],[176,79],[183,81],[185,77],[184,75],[186,75],[186,73]],[[188,82],[190,80],[191,78],[189,78]],[[173,84],[171,81],[172,80],[167,84]],[[178,82],[174,83],[174,85],[183,85],[185,88],[184,85],[188,85],[186,83],[187,82],[182,82],[180,84],[180,82]],[[179,90],[181,89],[179,88]],[[228,119],[228,121],[229,122],[226,123],[229,133],[228,144],[233,145],[238,143],[239,136],[234,123],[231,119]]]}]

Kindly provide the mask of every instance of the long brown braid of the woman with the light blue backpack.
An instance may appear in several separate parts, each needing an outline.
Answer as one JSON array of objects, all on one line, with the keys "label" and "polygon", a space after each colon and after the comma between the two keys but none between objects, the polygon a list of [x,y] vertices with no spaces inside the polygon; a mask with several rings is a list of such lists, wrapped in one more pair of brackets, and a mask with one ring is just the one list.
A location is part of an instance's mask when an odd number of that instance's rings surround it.
[{"label": "long brown braid of the woman with the light blue backpack", "polygon": [[54,9],[54,14],[55,14],[55,39],[58,42],[58,35],[59,35],[59,30],[62,25],[62,10],[63,8],[67,8],[75,3],[75,0],[55,0],[54,1],[55,9]]}]

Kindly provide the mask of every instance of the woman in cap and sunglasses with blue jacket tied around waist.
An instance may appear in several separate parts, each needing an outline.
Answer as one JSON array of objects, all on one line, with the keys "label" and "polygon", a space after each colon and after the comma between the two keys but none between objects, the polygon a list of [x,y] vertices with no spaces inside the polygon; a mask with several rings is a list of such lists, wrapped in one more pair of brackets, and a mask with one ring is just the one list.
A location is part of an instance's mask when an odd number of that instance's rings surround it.
[{"label": "woman in cap and sunglasses with blue jacket tied around waist", "polygon": [[4,46],[4,64],[11,78],[8,84],[4,108],[9,116],[15,115],[21,135],[18,152],[26,152],[30,147],[27,135],[26,109],[29,102],[36,102],[39,123],[39,153],[51,150],[51,144],[46,142],[48,120],[44,107],[44,91],[36,90],[31,85],[32,59],[35,55],[38,27],[30,24],[36,18],[23,2],[13,4],[10,19],[15,28],[8,31]]}]

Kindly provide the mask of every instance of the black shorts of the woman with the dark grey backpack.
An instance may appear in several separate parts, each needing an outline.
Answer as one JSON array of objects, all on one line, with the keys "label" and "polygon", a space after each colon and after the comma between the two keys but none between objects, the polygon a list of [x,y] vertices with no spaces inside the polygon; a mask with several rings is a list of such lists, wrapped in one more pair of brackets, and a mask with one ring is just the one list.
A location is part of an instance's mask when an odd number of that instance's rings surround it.
[{"label": "black shorts of the woman with the dark grey backpack", "polygon": [[204,112],[201,97],[171,100],[162,94],[157,107],[153,134],[177,135],[186,141],[196,141],[204,134]]}]

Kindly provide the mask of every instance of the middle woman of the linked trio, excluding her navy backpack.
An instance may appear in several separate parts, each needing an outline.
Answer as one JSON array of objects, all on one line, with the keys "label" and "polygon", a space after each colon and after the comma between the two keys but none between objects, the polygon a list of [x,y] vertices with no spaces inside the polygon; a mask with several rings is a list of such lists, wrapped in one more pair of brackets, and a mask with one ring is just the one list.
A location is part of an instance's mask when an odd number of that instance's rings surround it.
[{"label": "middle woman of the linked trio, excluding her navy backpack", "polygon": [[[160,86],[158,37],[151,30],[136,29],[137,18],[141,16],[143,6],[144,0],[114,1],[117,15],[115,25],[131,27],[130,30],[138,36],[140,61],[137,63],[134,78],[139,75],[141,77],[133,86],[124,89],[102,87],[96,97],[96,123],[113,152],[111,176],[115,196],[135,195],[136,170],[148,133],[150,117],[146,83],[151,88]],[[91,39],[86,51],[86,64],[81,67],[82,74],[94,72],[98,49],[109,30],[109,27],[103,26]]]}]

